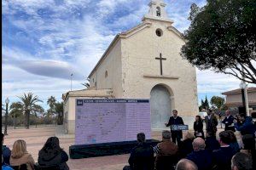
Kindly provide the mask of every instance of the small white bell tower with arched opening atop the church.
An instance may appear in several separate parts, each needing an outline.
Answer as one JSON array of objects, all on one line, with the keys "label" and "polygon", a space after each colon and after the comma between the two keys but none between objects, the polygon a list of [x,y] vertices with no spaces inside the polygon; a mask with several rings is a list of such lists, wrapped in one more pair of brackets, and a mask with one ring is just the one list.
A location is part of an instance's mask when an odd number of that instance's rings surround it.
[{"label": "small white bell tower with arched opening atop the church", "polygon": [[163,2],[163,0],[151,0],[150,3],[148,3],[149,11],[148,14],[144,15],[143,21],[147,19],[151,20],[164,20],[167,22],[172,22],[168,18],[168,15],[166,13],[166,3]]}]

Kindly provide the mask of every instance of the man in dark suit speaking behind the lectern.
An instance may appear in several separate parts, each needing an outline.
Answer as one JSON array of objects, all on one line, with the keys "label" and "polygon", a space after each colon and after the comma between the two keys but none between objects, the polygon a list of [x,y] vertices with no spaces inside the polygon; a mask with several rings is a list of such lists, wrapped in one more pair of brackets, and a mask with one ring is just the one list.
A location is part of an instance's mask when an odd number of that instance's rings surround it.
[{"label": "man in dark suit speaking behind the lectern", "polygon": [[180,143],[180,140],[183,138],[183,131],[182,130],[172,130],[172,125],[183,125],[183,118],[177,116],[177,110],[172,111],[172,115],[169,119],[168,123],[165,123],[166,127],[171,126],[171,133],[172,133],[172,142],[176,144]]}]

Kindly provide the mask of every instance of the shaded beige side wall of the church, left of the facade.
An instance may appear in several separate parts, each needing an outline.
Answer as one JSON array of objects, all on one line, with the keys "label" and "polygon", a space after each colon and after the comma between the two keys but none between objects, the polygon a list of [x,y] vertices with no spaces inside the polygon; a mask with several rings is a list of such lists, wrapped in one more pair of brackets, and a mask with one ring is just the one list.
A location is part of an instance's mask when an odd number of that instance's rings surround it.
[{"label": "shaded beige side wall of the church, left of the facade", "polygon": [[[108,77],[105,77],[106,71],[108,71]],[[112,88],[114,96],[121,96],[123,91],[122,84],[120,83],[122,80],[121,75],[121,42],[118,41],[90,77],[90,85],[93,88],[96,82],[96,89]]]}]

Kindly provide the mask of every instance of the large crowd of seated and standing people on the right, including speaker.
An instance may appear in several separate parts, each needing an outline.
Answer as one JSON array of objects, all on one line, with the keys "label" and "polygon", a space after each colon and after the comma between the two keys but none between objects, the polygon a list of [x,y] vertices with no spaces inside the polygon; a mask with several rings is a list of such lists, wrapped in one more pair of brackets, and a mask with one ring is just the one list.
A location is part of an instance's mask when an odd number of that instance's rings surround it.
[{"label": "large crowd of seated and standing people on the right, including speaker", "polygon": [[[206,135],[201,116],[195,117],[194,133],[182,137],[181,130],[173,130],[173,124],[183,124],[177,111],[172,111],[162,132],[162,141],[151,146],[145,134],[137,134],[137,146],[131,150],[129,166],[123,170],[253,170],[256,169],[255,125],[252,118],[239,114],[236,118],[225,112],[224,131],[217,134],[218,121],[212,111],[207,111]],[[236,139],[239,131],[241,141]],[[183,140],[182,140],[183,139]]]}]

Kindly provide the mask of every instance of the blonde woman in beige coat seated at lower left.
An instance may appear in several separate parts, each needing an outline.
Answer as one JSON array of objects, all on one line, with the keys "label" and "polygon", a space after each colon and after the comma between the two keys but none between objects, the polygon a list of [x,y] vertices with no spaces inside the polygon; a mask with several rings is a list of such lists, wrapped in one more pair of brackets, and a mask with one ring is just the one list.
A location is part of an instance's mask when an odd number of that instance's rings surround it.
[{"label": "blonde woman in beige coat seated at lower left", "polygon": [[16,140],[10,156],[11,167],[26,165],[27,170],[34,170],[35,161],[32,155],[26,151],[26,142],[24,140]]}]

